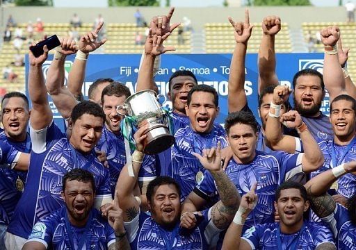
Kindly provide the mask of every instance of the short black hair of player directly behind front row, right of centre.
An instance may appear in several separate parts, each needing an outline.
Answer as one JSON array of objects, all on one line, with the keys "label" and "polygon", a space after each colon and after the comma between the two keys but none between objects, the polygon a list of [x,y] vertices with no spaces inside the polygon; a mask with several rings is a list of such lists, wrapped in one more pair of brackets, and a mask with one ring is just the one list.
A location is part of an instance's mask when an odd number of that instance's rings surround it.
[{"label": "short black hair of player directly behind front row, right of centre", "polygon": [[245,124],[251,126],[254,133],[257,133],[259,124],[256,121],[256,118],[252,113],[245,111],[237,111],[233,113],[229,113],[227,118],[225,119],[225,131],[227,135],[230,132],[230,128],[235,124]]}]

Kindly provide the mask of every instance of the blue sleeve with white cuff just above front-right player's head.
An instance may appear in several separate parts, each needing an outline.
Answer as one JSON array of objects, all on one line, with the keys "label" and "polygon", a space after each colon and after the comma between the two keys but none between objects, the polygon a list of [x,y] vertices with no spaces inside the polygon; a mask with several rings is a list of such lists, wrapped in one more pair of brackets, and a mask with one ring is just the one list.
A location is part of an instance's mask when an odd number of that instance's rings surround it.
[{"label": "blue sleeve with white cuff just above front-right player's head", "polygon": [[285,153],[276,151],[275,157],[280,165],[280,183],[288,181],[289,178],[296,174],[302,173],[302,156],[303,153]]}]

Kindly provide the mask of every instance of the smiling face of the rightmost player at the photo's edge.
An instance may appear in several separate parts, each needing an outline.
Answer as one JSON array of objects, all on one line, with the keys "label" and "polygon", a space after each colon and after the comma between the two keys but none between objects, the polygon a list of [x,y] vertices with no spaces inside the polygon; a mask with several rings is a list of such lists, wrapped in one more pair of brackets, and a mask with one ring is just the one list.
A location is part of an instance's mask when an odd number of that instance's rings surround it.
[{"label": "smiling face of the rightmost player at the photo's edge", "polygon": [[332,103],[330,123],[334,131],[334,140],[338,144],[349,142],[355,136],[355,110],[353,103],[347,100],[338,100]]}]

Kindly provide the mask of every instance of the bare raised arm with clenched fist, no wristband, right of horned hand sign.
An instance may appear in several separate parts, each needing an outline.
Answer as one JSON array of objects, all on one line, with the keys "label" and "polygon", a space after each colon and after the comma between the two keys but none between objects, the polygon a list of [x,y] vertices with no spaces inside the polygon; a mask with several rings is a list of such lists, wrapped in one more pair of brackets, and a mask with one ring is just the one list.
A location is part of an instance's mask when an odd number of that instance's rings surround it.
[{"label": "bare raised arm with clenched fist, no wristband, right of horned hand sign", "polygon": [[275,73],[275,35],[281,30],[280,17],[268,16],[262,22],[262,40],[259,46],[259,93],[270,85],[278,85]]}]

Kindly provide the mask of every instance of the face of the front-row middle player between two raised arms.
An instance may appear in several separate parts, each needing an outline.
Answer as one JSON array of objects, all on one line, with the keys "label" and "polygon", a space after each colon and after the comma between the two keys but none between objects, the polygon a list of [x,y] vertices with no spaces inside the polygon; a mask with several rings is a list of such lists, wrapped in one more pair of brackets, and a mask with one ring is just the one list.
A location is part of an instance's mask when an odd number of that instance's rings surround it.
[{"label": "face of the front-row middle player between two raised arms", "polygon": [[179,220],[181,203],[177,188],[163,184],[156,188],[152,201],[148,201],[154,221],[166,228],[172,228]]}]

